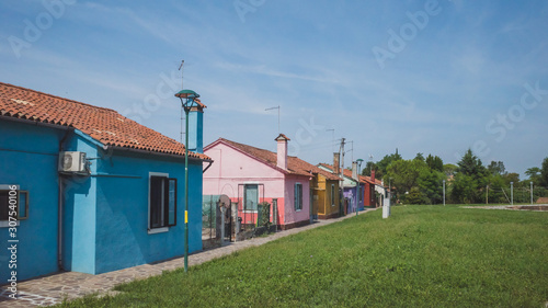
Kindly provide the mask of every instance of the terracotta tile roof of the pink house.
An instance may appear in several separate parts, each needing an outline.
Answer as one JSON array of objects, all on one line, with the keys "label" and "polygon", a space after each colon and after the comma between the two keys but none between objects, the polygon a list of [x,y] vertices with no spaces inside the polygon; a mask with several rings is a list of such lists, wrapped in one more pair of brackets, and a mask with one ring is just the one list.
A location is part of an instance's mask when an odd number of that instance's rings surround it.
[{"label": "terracotta tile roof of the pink house", "polygon": [[[285,135],[284,135],[284,137],[285,137]],[[285,138],[287,138],[287,137],[285,137]],[[287,138],[287,139],[289,139],[289,138]],[[231,140],[228,140],[225,138],[219,138],[217,141],[228,144],[228,145],[254,157],[255,159],[258,159],[258,160],[260,160],[260,161],[262,161],[271,167],[277,168],[277,153],[275,153],[275,152],[272,152],[272,151],[269,151],[265,149],[255,148],[255,147],[248,146],[248,145],[243,145],[243,144],[238,144],[238,142],[235,142],[235,141],[231,141]],[[339,176],[331,174],[329,172],[326,172],[324,170],[321,170],[320,168],[318,168],[311,163],[308,163],[308,162],[299,159],[298,157],[293,157],[293,156],[287,157],[287,169],[288,169],[287,170],[288,173],[292,173],[292,174],[311,176],[312,174],[320,173],[320,174],[324,175],[328,180],[340,180]]]}]

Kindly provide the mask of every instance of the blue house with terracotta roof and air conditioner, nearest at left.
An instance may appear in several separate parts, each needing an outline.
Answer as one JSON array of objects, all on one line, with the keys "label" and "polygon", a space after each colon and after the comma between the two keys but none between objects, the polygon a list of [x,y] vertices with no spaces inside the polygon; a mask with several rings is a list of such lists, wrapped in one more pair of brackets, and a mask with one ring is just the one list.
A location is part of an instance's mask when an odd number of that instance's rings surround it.
[{"label": "blue house with terracotta roof and air conditioner, nearest at left", "polygon": [[[204,107],[190,115],[190,252],[202,249],[212,162],[201,153]],[[100,274],[184,254],[184,150],[113,110],[0,83],[0,242],[16,246],[0,249],[0,284],[11,271]]]}]

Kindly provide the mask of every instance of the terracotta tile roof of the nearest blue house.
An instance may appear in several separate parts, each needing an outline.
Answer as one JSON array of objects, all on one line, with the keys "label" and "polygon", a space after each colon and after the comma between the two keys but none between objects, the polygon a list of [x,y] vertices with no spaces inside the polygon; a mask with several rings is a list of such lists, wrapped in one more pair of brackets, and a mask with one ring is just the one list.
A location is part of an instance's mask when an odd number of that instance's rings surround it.
[{"label": "terracotta tile roof of the nearest blue house", "polygon": [[[0,118],[4,116],[73,127],[107,146],[184,156],[183,144],[114,110],[0,82]],[[195,152],[189,157],[209,159]]]}]

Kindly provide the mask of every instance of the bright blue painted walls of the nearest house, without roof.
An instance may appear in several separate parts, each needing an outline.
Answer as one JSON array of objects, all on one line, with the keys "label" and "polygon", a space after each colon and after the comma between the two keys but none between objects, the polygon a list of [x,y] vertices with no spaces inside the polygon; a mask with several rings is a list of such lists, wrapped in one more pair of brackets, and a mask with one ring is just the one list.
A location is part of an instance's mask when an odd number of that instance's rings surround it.
[{"label": "bright blue painted walls of the nearest house, without roof", "polygon": [[[201,113],[199,113],[201,114]],[[66,130],[0,121],[0,184],[30,192],[28,219],[18,228],[18,280],[57,272],[59,141]],[[60,175],[64,189],[62,266],[99,274],[184,253],[184,159],[125,150],[105,152],[78,130],[64,150],[93,158],[91,176]],[[178,225],[148,233],[149,172],[178,179]],[[127,176],[123,176],[127,175]],[[202,162],[189,167],[189,251],[202,250]],[[0,228],[0,241],[8,242]],[[0,250],[0,281],[9,251]]]}]

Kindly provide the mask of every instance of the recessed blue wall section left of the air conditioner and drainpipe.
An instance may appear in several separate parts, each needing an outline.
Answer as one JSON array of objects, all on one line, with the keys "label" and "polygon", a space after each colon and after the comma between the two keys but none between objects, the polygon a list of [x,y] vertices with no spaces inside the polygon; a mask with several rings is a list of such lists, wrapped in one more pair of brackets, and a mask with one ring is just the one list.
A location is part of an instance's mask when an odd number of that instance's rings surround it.
[{"label": "recessed blue wall section left of the air conditioner and drainpipe", "polygon": [[[58,271],[57,217],[59,140],[65,132],[0,121],[0,184],[19,184],[28,191],[28,219],[18,227],[18,267],[9,269],[7,247],[0,249],[0,284],[16,271],[18,281]],[[8,228],[0,241],[8,243]]]}]

